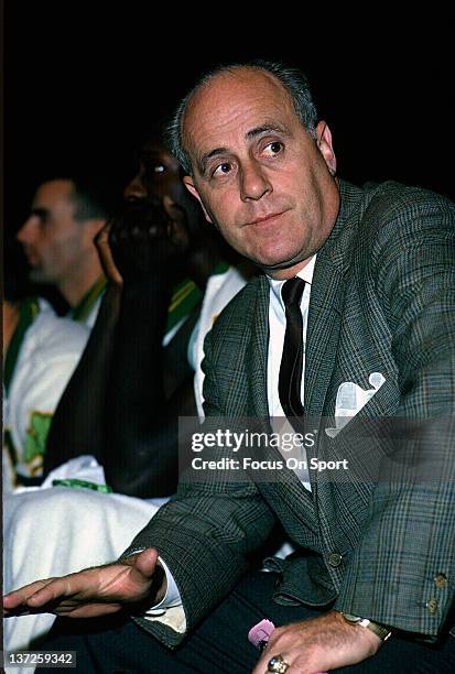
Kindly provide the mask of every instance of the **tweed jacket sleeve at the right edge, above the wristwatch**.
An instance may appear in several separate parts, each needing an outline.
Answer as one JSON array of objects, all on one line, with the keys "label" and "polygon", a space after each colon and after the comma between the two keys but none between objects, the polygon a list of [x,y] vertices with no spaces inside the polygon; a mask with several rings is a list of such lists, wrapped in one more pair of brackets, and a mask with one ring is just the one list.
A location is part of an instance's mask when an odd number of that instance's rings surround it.
[{"label": "tweed jacket sleeve at the right edge, above the wristwatch", "polygon": [[435,640],[455,594],[455,214],[422,194],[396,209],[376,248],[396,418],[413,434],[389,443],[335,608]]}]

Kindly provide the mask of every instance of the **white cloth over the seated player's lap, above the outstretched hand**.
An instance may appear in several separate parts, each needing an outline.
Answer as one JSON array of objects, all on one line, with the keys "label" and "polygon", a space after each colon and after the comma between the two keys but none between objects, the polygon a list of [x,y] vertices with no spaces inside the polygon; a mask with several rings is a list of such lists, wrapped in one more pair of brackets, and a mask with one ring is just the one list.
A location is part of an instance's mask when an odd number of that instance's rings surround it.
[{"label": "white cloth over the seated player's lap, above the outstretched hand", "polygon": [[[104,483],[93,457],[56,468],[41,487],[19,488],[3,499],[3,587],[10,591],[37,578],[63,576],[117,559],[145,526],[163,499],[145,501],[91,489],[52,487],[66,477]],[[51,535],[51,534],[54,535]],[[4,650],[33,649],[55,616],[37,613],[3,620]],[[18,674],[22,668],[8,668]],[[23,674],[31,674],[24,667]]]}]

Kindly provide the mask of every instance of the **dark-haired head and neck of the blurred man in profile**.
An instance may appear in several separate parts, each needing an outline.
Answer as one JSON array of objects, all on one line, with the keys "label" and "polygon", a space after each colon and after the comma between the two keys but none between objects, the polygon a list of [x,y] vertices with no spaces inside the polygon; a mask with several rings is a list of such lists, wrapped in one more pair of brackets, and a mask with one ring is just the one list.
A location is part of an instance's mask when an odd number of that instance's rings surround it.
[{"label": "dark-haired head and neck of the blurred man in profile", "polygon": [[97,177],[53,176],[33,197],[18,231],[30,281],[55,286],[69,317],[95,324],[106,285],[94,238],[115,209],[108,185]]}]

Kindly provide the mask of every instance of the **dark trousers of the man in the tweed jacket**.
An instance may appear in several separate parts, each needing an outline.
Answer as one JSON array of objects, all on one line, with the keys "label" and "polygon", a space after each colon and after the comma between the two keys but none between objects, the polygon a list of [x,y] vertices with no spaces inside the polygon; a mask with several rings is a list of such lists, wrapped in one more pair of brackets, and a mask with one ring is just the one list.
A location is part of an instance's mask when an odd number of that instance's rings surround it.
[{"label": "dark trousers of the man in the tweed jacket", "polygon": [[[282,626],[319,615],[304,607],[274,604],[271,596],[275,580],[274,573],[254,572],[245,576],[230,596],[174,651],[129,618],[119,616],[58,619],[43,649],[76,651],[76,671],[84,674],[245,674],[251,672],[259,656],[247,640],[253,624],[268,618],[275,626]],[[425,645],[392,635],[373,657],[336,672],[452,674],[455,639],[448,637],[440,645]]]}]

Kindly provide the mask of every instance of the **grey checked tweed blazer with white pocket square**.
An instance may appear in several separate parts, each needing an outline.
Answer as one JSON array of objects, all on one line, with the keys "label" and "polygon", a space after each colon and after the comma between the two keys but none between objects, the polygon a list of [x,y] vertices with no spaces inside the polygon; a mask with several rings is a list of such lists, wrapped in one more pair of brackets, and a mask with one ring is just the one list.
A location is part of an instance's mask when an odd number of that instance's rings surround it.
[{"label": "grey checked tweed blazer with white pocket square", "polygon": [[[454,205],[431,192],[340,181],[340,210],[317,253],[311,290],[305,416],[323,424],[335,413],[340,384],[368,390],[379,372],[384,381],[362,417],[411,420],[419,432],[412,442],[383,433],[365,441],[365,433],[348,432],[356,420],[332,438],[321,427],[312,456],[348,457],[366,472],[332,480],[311,471],[311,494],[292,470],[269,481],[253,471],[232,481],[223,470],[201,483],[182,480],[129,550],[158,547],[181,590],[188,630],[230,591],[277,523],[296,547],[291,559],[269,562],[282,577],[277,601],[334,606],[427,640],[446,627],[455,593],[447,439],[455,399],[454,222]],[[263,275],[252,279],[206,338],[208,427],[212,417],[241,416],[268,426],[269,292]],[[403,443],[412,465],[423,467],[418,477],[400,472]],[[438,478],[426,479],[440,455]],[[392,468],[381,477],[384,463]],[[169,645],[182,639],[163,624],[141,624]]]}]

